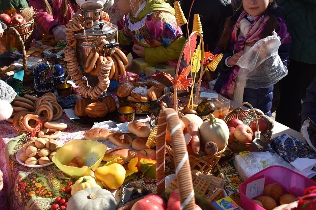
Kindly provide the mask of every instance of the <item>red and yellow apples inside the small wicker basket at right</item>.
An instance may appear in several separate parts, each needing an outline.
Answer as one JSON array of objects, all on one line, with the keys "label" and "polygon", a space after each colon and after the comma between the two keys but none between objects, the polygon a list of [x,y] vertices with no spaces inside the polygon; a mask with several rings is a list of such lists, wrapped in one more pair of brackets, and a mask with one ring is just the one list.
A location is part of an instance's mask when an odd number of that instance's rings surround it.
[{"label": "red and yellow apples inside the small wicker basket at right", "polygon": [[[229,129],[228,141],[230,142],[234,142],[234,139],[237,139],[240,142],[251,143],[255,131],[257,131],[255,120],[252,121],[251,128],[248,125],[245,125],[241,120],[236,118],[228,121],[226,124]],[[259,131],[261,131],[261,133],[266,133],[268,131],[269,123],[264,118],[258,118],[258,124]]]}]

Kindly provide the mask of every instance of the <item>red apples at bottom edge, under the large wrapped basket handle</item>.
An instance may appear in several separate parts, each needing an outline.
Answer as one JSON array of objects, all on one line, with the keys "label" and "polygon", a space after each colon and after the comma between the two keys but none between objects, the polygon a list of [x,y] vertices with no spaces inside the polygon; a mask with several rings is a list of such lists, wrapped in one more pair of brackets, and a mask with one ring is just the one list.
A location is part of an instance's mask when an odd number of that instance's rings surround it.
[{"label": "red apples at bottom edge, under the large wrapped basket handle", "polygon": [[[131,210],[180,210],[180,196],[178,189],[173,190],[170,194],[169,200],[164,201],[160,196],[155,194],[149,194],[143,199],[137,201]],[[197,204],[195,204],[194,210],[202,210]]]}]

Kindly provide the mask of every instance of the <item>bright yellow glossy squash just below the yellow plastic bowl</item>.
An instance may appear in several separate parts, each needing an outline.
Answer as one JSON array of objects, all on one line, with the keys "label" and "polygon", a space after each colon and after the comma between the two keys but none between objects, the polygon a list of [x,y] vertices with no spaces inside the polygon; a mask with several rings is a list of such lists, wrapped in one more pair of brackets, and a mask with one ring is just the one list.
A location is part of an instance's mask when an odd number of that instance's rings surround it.
[{"label": "bright yellow glossy squash just below the yellow plastic bowl", "polygon": [[109,166],[98,167],[94,176],[104,182],[110,189],[119,188],[125,179],[125,168],[119,163],[113,163]]}]

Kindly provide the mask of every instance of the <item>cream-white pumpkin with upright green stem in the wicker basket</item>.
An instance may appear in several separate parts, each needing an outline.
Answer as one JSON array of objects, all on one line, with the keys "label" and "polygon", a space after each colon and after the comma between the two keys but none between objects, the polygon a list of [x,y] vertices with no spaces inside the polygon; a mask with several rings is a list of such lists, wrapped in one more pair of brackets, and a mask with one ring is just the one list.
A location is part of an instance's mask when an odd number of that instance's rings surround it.
[{"label": "cream-white pumpkin with upright green stem in the wicker basket", "polygon": [[223,120],[215,118],[214,115],[210,114],[210,119],[205,120],[199,130],[201,148],[204,148],[207,142],[212,141],[216,143],[218,151],[224,149],[229,138],[229,129]]}]

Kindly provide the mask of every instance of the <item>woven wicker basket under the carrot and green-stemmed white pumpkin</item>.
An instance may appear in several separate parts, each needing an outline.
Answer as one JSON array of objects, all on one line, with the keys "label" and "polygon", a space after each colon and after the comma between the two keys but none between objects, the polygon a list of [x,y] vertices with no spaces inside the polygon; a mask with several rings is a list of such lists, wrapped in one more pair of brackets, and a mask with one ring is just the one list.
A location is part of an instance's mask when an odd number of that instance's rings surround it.
[{"label": "woven wicker basket under the carrot and green-stemmed white pumpkin", "polygon": [[[210,173],[213,170],[213,168],[216,166],[216,164],[218,163],[219,159],[221,158],[221,155],[226,150],[226,147],[227,147],[227,143],[223,150],[218,151],[214,155],[206,155],[202,157],[189,155],[191,170],[195,169],[204,174]],[[174,162],[173,149],[170,146],[166,145],[166,150],[170,157],[171,162]]]}]

